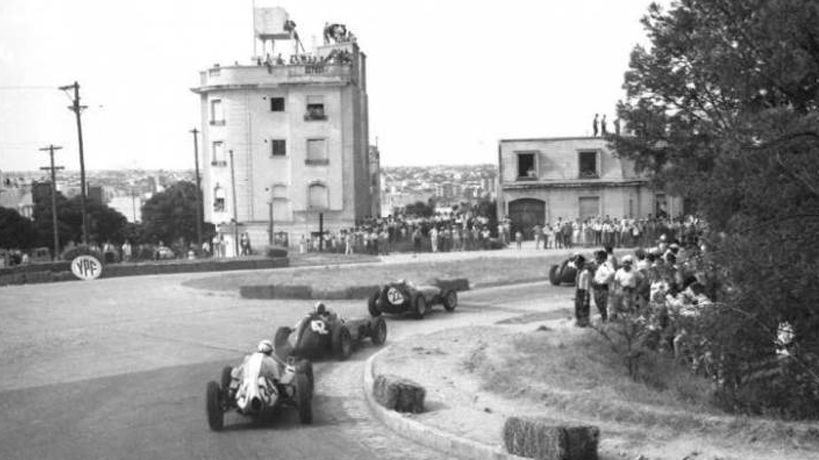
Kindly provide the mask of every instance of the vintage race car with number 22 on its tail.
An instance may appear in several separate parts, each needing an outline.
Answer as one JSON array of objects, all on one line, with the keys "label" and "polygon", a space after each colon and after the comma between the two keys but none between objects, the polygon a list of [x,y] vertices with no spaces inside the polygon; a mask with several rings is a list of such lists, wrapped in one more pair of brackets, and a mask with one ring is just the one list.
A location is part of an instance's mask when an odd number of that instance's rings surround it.
[{"label": "vintage race car with number 22 on its tail", "polygon": [[382,313],[411,313],[421,319],[436,304],[441,304],[446,311],[452,312],[458,305],[458,291],[440,281],[421,285],[399,280],[387,283],[373,292],[367,301],[367,309],[373,317]]}]

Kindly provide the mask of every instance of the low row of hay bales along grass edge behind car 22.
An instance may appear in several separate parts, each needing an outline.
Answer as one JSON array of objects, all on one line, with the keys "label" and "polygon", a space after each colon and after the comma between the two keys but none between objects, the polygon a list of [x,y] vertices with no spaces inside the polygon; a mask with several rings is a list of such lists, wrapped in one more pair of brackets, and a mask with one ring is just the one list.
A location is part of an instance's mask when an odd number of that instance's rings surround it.
[{"label": "low row of hay bales along grass edge behind car 22", "polygon": [[[436,280],[436,283],[442,289],[469,290],[469,280],[466,278]],[[245,299],[355,300],[366,299],[380,288],[381,286],[377,284],[347,286],[338,289],[306,284],[262,284],[240,286],[239,295]]]}]

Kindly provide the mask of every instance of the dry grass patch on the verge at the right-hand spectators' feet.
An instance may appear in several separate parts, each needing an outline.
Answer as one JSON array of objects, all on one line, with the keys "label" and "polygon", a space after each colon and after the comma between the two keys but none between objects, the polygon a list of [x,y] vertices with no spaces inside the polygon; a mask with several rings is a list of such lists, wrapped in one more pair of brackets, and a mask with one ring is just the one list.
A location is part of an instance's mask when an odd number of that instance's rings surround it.
[{"label": "dry grass patch on the verge at the right-hand spectators' feet", "polygon": [[734,417],[712,404],[709,381],[666,355],[648,356],[642,381],[592,330],[537,331],[479,343],[462,363],[482,387],[587,419],[741,440],[819,446],[806,424]]}]

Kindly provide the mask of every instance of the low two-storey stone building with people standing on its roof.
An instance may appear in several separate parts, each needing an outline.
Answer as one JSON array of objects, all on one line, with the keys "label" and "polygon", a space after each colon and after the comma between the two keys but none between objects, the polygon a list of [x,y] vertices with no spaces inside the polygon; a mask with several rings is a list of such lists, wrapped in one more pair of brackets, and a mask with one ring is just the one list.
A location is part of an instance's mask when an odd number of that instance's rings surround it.
[{"label": "low two-storey stone building with people standing on its roof", "polygon": [[498,169],[498,216],[509,216],[515,228],[530,230],[558,218],[682,212],[679,197],[651,188],[634,162],[617,158],[599,137],[503,139]]}]

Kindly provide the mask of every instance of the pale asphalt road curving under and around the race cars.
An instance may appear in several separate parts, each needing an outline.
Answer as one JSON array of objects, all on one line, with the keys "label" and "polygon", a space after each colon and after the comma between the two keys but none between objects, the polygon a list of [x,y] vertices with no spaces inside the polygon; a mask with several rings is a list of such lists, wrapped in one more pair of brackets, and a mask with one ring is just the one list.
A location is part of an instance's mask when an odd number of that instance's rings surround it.
[{"label": "pale asphalt road curving under and around the race cars", "polygon": [[[370,416],[361,378],[371,344],[349,361],[316,364],[312,425],[288,412],[263,422],[228,414],[226,430],[211,432],[205,383],[313,302],[180,286],[196,276],[205,275],[0,288],[0,458],[444,457]],[[454,314],[437,307],[423,321],[390,317],[387,341],[533,312],[554,316],[572,295],[547,283],[466,292]],[[366,315],[363,301],[328,306]]]}]

